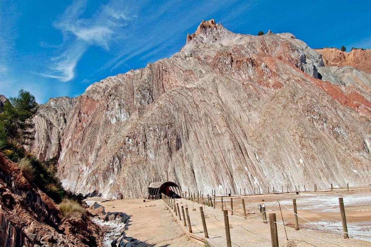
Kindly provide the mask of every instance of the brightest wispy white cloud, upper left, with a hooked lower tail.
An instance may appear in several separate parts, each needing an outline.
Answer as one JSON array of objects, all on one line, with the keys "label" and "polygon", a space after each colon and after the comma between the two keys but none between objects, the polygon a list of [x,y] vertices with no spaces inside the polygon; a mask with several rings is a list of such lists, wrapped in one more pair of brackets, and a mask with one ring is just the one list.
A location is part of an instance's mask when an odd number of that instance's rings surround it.
[{"label": "brightest wispy white cloud, upper left, with a hooked lower tail", "polygon": [[57,51],[59,55],[50,59],[46,71],[35,74],[63,82],[70,81],[75,77],[78,61],[90,46],[100,46],[109,51],[111,42],[123,38],[121,28],[136,17],[130,16],[120,7],[113,7],[114,4],[109,2],[86,19],[81,18],[86,9],[86,1],[73,1],[54,23],[63,35],[63,43]]}]

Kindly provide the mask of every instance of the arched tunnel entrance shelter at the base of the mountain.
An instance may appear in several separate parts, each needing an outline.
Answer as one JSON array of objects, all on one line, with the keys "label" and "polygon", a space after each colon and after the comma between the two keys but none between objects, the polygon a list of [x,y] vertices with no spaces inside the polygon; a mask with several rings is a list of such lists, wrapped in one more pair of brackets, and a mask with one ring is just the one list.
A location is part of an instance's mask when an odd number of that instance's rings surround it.
[{"label": "arched tunnel entrance shelter at the base of the mountain", "polygon": [[153,182],[148,186],[148,199],[160,199],[164,193],[171,198],[181,198],[181,189],[171,181]]}]

